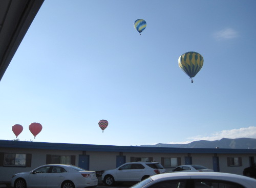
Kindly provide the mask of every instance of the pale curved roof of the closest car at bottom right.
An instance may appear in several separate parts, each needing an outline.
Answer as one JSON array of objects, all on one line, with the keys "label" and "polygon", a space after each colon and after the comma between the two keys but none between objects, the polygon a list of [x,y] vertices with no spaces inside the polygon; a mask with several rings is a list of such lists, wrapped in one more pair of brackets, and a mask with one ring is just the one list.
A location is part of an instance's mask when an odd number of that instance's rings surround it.
[{"label": "pale curved roof of the closest car at bottom right", "polygon": [[151,176],[151,179],[154,181],[157,180],[172,180],[172,179],[216,179],[216,180],[230,180],[233,182],[253,182],[256,183],[256,179],[237,175],[237,174],[230,174],[230,173],[222,173],[222,172],[171,172],[171,173],[164,173],[164,174],[157,174]]}]

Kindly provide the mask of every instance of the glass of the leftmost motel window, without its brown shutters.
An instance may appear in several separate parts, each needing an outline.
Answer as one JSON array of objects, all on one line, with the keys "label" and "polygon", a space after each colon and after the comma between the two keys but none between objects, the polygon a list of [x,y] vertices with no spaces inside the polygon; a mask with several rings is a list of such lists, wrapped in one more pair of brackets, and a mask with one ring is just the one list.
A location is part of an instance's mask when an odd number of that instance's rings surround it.
[{"label": "glass of the leftmost motel window, without its brown shutters", "polygon": [[4,165],[26,167],[26,154],[5,153]]}]

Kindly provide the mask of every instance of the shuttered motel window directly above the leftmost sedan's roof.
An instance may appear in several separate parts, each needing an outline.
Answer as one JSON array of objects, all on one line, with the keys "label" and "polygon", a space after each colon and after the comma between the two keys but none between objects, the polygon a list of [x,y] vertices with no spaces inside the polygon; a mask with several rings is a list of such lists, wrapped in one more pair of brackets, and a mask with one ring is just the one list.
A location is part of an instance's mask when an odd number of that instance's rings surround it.
[{"label": "shuttered motel window directly above the leftmost sedan's roof", "polygon": [[75,165],[75,155],[47,155],[46,164]]}]

